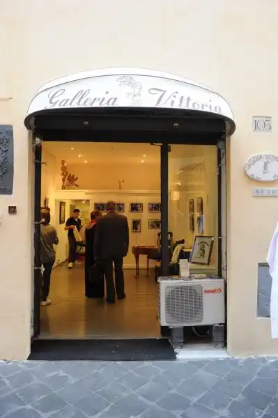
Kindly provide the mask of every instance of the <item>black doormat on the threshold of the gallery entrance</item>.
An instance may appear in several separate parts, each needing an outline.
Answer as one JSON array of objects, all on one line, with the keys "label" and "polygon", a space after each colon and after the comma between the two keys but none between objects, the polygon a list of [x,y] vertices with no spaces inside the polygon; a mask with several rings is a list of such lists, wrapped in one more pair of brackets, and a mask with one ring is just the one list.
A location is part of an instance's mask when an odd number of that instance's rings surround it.
[{"label": "black doormat on the threshold of the gallery entrance", "polygon": [[35,340],[29,360],[102,362],[174,360],[176,354],[167,339],[125,340]]}]

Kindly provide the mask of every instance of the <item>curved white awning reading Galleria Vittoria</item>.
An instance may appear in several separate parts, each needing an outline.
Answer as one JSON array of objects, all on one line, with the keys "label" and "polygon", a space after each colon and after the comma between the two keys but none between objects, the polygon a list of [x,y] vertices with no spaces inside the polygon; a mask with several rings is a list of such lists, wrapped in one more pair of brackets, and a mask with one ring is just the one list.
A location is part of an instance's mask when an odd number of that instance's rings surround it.
[{"label": "curved white awning reading Galleria Vittoria", "polygon": [[105,68],[79,72],[48,82],[33,97],[25,125],[54,109],[82,108],[177,109],[203,112],[226,121],[235,130],[233,111],[218,93],[166,72],[139,68]]}]

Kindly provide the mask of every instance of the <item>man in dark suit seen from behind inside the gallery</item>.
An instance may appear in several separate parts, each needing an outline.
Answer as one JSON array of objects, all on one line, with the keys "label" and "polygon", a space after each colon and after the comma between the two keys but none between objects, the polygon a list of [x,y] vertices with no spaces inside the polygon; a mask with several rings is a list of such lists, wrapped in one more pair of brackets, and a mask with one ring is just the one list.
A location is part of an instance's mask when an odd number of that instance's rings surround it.
[{"label": "man in dark suit seen from behind inside the gallery", "polygon": [[105,273],[107,302],[114,303],[116,295],[125,298],[123,257],[128,254],[129,229],[127,217],[116,212],[116,203],[107,202],[106,210],[107,214],[95,225],[94,254]]}]

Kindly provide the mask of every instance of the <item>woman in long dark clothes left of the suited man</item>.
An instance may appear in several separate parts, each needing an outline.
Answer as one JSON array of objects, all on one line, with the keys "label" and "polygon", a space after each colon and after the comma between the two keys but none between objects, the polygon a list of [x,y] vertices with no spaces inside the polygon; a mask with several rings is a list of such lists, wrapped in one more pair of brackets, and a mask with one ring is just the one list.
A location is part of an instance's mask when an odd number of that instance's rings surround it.
[{"label": "woman in long dark clothes left of the suited man", "polygon": [[[104,297],[105,279],[103,273],[95,266],[95,254],[93,242],[95,239],[95,224],[101,217],[99,210],[91,212],[91,222],[85,229],[85,296],[86,297]],[[96,266],[95,266],[96,267]],[[96,277],[96,275],[98,277]]]}]

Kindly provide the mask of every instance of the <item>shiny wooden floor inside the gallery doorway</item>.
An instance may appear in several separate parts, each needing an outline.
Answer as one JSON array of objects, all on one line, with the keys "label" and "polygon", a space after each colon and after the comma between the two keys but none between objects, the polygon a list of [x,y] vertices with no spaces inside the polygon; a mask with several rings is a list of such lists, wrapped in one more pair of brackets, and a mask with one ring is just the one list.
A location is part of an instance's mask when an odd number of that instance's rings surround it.
[{"label": "shiny wooden floor inside the gallery doorway", "polygon": [[154,272],[125,270],[125,300],[107,304],[105,299],[84,296],[84,268],[65,265],[52,272],[49,298],[41,307],[40,337],[63,339],[131,339],[160,336],[157,321],[157,286]]}]

